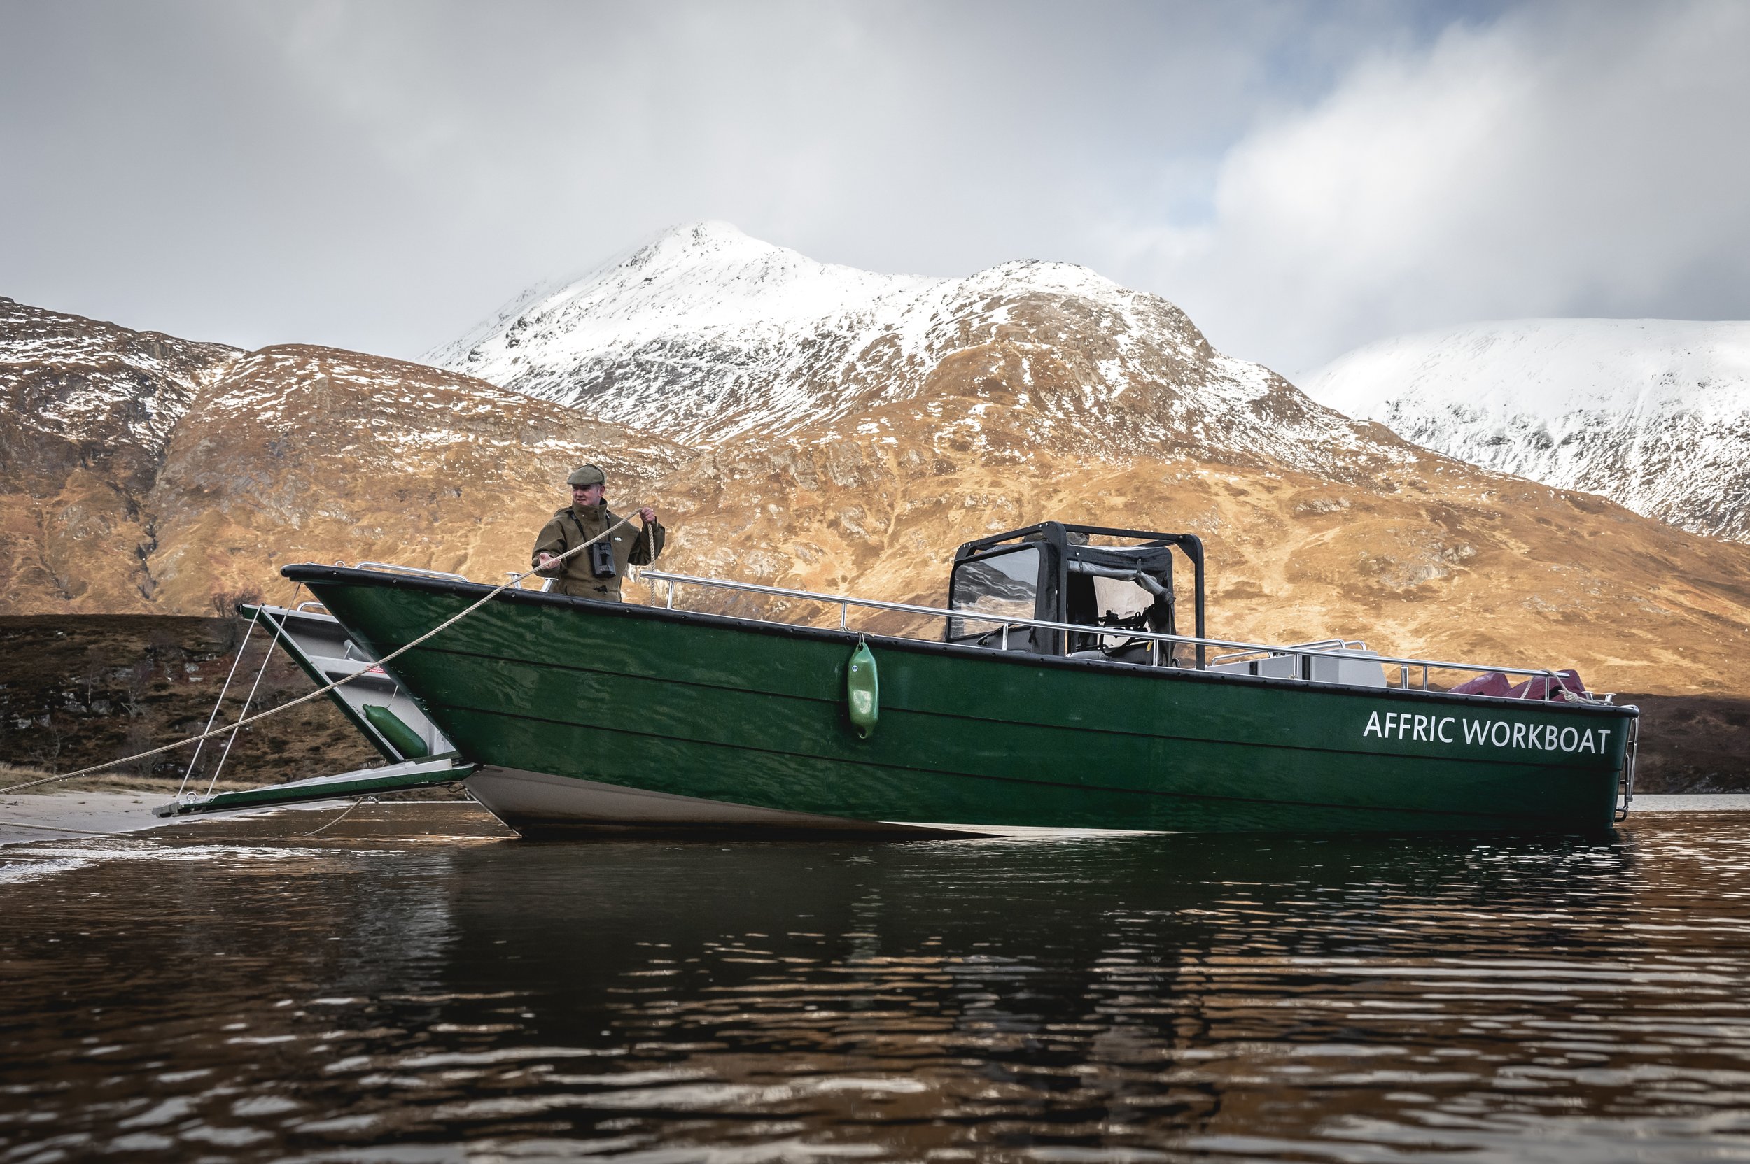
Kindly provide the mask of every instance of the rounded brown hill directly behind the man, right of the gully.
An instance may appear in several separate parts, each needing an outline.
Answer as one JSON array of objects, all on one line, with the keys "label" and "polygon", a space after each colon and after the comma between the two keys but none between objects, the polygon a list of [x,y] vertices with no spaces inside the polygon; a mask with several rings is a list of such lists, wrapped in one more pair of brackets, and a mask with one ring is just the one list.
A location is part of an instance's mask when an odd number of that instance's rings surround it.
[{"label": "rounded brown hill directly behind the man, right of the gully", "polygon": [[[584,460],[644,491],[691,454],[662,437],[420,364],[262,348],[208,385],[145,505],[161,610],[273,587],[289,561],[394,561],[500,580]],[[271,592],[271,589],[270,589]]]}]

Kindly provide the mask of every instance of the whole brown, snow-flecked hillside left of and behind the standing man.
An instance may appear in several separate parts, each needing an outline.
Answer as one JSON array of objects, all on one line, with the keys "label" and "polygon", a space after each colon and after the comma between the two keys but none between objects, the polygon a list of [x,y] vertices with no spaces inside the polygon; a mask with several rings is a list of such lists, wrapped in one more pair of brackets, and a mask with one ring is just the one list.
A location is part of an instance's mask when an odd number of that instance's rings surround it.
[{"label": "whole brown, snow-flecked hillside left of and behind the standing man", "polygon": [[[662,437],[420,364],[242,353],[0,301],[0,613],[212,613],[285,561],[523,568],[583,460]],[[485,572],[485,575],[481,573]]]}]

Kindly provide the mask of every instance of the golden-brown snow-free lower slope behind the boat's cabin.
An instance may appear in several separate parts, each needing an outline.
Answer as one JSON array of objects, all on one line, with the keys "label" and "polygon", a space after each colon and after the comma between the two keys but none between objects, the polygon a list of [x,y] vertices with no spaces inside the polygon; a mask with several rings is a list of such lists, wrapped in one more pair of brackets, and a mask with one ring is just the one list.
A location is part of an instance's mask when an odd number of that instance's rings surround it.
[{"label": "golden-brown snow-free lower slope behind the boat's cabin", "polygon": [[744,439],[682,467],[656,491],[677,512],[665,565],[940,605],[954,547],[987,531],[1054,517],[1192,531],[1214,636],[1578,666],[1605,690],[1745,690],[1750,547],[1432,453],[1351,481],[1088,460],[1029,449],[1026,412],[976,390],[936,405],[875,414],[901,433],[891,444]]}]

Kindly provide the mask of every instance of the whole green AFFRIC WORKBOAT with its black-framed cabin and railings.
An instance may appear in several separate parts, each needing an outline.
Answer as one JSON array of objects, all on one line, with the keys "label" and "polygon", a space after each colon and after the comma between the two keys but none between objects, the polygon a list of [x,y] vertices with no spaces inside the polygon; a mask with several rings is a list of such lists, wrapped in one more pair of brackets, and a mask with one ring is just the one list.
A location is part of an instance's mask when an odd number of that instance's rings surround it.
[{"label": "whole green AFFRIC WORKBOAT with its black-framed cabin and railings", "polygon": [[[1176,559],[1194,573],[1190,634]],[[282,573],[360,659],[492,591],[396,568]],[[369,725],[420,720],[411,734],[443,752],[385,757],[410,781],[452,773],[528,837],[1600,834],[1633,793],[1638,711],[1572,671],[1208,638],[1194,535],[1043,523],[980,538],[942,608],[644,579],[651,605],[508,589],[394,659],[382,675],[406,701]]]}]

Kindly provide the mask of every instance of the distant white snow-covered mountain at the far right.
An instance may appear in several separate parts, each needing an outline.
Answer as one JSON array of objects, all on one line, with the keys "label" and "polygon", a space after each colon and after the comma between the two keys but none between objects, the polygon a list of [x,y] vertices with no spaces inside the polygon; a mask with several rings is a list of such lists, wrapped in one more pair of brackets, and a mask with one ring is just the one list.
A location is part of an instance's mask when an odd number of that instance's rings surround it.
[{"label": "distant white snow-covered mountain at the far right", "polygon": [[1447,456],[1750,542],[1750,323],[1477,323],[1358,348],[1300,386]]}]

